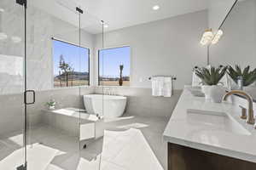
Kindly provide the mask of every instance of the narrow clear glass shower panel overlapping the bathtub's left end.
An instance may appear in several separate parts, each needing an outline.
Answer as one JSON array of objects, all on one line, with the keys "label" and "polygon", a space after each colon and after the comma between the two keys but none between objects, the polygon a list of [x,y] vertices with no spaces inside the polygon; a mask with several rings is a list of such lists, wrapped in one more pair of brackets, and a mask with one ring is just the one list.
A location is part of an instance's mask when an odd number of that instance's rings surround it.
[{"label": "narrow clear glass shower panel overlapping the bathtub's left end", "polygon": [[[83,109],[80,110],[79,115],[80,159],[78,169],[102,169],[103,96],[101,93],[97,93],[99,89],[96,89],[97,48],[102,48],[102,36],[102,21],[87,13],[86,10],[80,14],[80,71],[89,71],[90,78],[88,78],[88,81],[90,86],[81,85],[79,87],[80,99],[82,99],[81,101],[84,105],[81,105]],[[87,62],[84,60],[84,48],[90,49],[90,65],[88,69],[87,64],[85,64]],[[102,91],[102,88],[100,91]]]}]

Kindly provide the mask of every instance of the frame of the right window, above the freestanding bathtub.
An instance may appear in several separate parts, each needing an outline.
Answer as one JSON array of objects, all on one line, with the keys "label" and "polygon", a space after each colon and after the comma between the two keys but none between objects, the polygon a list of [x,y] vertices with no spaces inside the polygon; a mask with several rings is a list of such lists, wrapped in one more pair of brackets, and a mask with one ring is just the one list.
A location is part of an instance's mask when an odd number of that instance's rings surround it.
[{"label": "frame of the right window, above the freestanding bathtub", "polygon": [[97,86],[101,86],[101,87],[131,87],[131,84],[129,86],[118,86],[118,85],[101,85],[100,84],[100,51],[104,50],[104,49],[114,49],[114,48],[130,48],[130,82],[131,82],[131,45],[123,45],[123,46],[115,46],[115,47],[111,47],[111,48],[100,48],[97,50],[97,57],[98,57],[98,74],[97,74],[97,78],[98,78],[98,83]]}]

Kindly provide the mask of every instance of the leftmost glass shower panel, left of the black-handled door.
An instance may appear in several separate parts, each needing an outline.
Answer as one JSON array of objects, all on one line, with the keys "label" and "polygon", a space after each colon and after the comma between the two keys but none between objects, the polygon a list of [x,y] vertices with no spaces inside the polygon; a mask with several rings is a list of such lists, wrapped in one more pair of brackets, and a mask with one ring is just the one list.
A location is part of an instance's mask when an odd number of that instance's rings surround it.
[{"label": "leftmost glass shower panel, left of the black-handled door", "polygon": [[[20,2],[21,3],[21,2]],[[24,149],[25,8],[0,1],[0,169],[26,163]]]}]

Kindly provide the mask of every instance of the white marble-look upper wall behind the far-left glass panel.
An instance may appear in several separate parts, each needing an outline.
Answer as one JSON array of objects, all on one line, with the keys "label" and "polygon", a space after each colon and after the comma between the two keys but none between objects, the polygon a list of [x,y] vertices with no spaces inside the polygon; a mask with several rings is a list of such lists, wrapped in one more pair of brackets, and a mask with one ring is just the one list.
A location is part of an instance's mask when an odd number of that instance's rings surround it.
[{"label": "white marble-look upper wall behind the far-left glass panel", "polygon": [[0,7],[0,94],[20,93],[24,84],[24,11],[15,7],[15,1],[1,0]]}]

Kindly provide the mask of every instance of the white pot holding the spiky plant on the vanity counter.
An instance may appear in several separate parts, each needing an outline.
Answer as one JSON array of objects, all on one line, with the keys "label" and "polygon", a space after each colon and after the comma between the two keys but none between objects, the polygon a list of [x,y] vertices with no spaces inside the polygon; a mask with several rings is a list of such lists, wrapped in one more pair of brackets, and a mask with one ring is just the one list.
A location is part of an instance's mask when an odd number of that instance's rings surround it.
[{"label": "white pot holding the spiky plant on the vanity counter", "polygon": [[226,93],[226,88],[224,88],[223,86],[217,85],[217,86],[211,86],[209,95],[212,102],[221,103],[225,93]]}]

